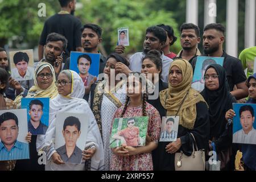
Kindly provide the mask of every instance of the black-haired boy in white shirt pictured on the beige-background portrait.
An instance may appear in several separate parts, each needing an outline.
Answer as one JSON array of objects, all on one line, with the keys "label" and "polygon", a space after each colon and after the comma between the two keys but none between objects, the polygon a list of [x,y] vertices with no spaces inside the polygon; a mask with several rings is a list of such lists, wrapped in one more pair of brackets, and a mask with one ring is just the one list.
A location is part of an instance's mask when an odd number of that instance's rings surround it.
[{"label": "black-haired boy in white shirt pictured on the beige-background portrait", "polygon": [[26,52],[16,52],[13,56],[15,68],[11,69],[11,77],[17,81],[34,79],[34,68],[28,66],[28,57]]}]

